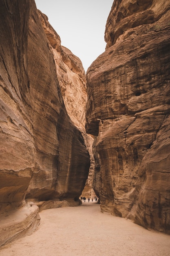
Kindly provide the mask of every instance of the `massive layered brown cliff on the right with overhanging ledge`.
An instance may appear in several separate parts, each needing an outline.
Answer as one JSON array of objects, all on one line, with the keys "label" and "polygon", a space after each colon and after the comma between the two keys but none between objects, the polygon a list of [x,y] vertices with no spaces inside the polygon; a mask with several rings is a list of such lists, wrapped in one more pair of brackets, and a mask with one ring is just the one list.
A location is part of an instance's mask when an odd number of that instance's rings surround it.
[{"label": "massive layered brown cliff on the right with overhanging ledge", "polygon": [[115,0],[88,68],[102,211],[170,233],[170,2]]}]

